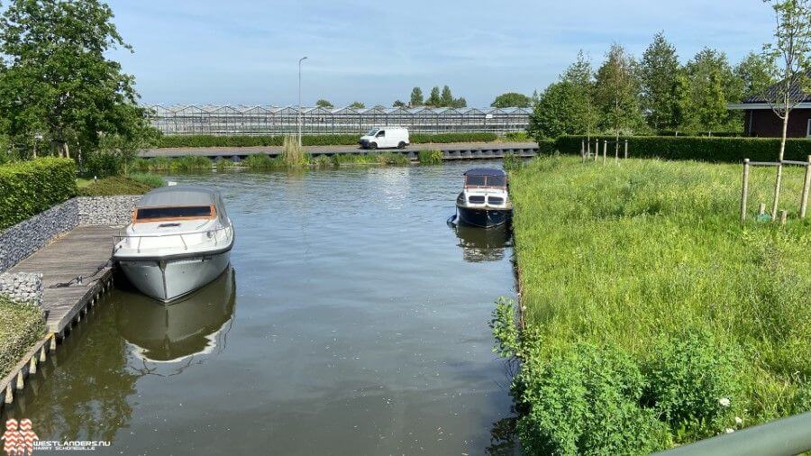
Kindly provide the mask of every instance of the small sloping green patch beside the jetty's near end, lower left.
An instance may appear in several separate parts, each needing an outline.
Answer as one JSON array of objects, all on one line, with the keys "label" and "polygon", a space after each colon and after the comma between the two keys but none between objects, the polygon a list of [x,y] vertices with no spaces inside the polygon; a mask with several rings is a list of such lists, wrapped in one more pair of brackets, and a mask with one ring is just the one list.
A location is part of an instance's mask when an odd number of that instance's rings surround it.
[{"label": "small sloping green patch beside the jetty's near end, lower left", "polygon": [[45,335],[39,307],[12,304],[0,296],[0,378]]}]

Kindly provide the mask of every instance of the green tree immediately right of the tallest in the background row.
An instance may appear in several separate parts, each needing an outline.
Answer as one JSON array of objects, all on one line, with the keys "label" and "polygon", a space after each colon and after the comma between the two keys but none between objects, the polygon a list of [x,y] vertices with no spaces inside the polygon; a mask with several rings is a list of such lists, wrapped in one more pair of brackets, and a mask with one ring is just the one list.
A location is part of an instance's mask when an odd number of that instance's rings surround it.
[{"label": "green tree immediately right of the tallest in the background row", "polygon": [[686,69],[691,87],[690,105],[696,109],[693,128],[705,132],[737,128],[740,119],[729,113],[726,104],[741,101],[743,81],[735,78],[726,54],[704,48],[688,62]]}]

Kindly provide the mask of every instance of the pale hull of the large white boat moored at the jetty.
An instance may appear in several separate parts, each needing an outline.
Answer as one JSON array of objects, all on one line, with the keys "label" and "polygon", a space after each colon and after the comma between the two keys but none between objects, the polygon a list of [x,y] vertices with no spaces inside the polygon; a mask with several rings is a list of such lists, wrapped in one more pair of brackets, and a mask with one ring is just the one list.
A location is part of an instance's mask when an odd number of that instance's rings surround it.
[{"label": "pale hull of the large white boat moored at the jetty", "polygon": [[220,277],[231,261],[231,250],[196,253],[169,259],[121,259],[119,267],[144,295],[169,302]]}]

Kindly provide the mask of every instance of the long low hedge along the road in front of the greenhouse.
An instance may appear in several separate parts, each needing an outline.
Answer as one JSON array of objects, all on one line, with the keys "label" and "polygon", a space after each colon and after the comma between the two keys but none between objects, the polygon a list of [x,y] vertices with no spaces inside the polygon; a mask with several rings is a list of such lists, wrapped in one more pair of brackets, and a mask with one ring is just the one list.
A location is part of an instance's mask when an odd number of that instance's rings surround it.
[{"label": "long low hedge along the road in front of the greenhouse", "polygon": [[[309,134],[301,137],[305,146],[351,146],[358,143],[360,134]],[[496,141],[496,133],[414,133],[411,142],[489,142]],[[281,146],[284,136],[212,136],[207,134],[163,136],[159,148],[167,147],[253,147]]]}]

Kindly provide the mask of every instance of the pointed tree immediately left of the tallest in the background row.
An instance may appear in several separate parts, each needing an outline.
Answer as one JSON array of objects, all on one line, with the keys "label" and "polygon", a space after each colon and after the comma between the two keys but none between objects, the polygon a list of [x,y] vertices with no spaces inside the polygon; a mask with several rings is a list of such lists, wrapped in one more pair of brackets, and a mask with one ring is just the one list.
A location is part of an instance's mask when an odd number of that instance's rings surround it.
[{"label": "pointed tree immediately left of the tallest in the background row", "polygon": [[603,113],[603,126],[614,130],[616,141],[622,131],[644,125],[639,107],[639,81],[634,61],[619,44],[608,50],[606,61],[597,70],[595,101]]}]

